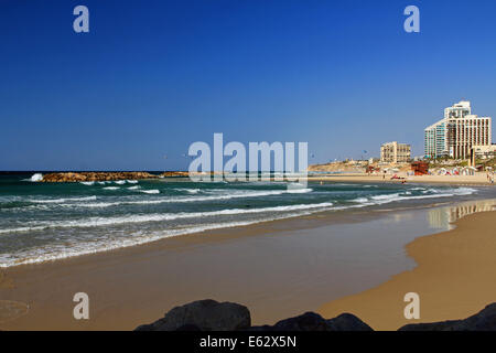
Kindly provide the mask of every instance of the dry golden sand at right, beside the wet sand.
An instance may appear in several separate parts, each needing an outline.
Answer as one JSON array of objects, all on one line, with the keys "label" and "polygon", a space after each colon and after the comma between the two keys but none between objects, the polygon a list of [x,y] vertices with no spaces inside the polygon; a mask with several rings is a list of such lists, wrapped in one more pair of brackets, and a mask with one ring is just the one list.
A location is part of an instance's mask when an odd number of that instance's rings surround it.
[{"label": "dry golden sand at right, beside the wet sand", "polygon": [[[466,216],[456,228],[407,245],[418,264],[389,281],[324,304],[319,312],[352,312],[376,330],[414,322],[463,319],[496,301],[496,212]],[[420,296],[420,320],[406,320],[403,296]]]}]

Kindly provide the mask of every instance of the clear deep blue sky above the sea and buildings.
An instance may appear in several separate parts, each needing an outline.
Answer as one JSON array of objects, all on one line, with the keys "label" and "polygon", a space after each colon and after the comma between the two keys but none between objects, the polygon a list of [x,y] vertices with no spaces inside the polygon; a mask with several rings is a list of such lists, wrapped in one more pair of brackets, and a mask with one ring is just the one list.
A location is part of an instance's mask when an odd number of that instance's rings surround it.
[{"label": "clear deep blue sky above the sea and buildings", "polygon": [[[89,9],[89,33],[73,9]],[[403,9],[420,9],[420,33]],[[423,153],[496,116],[496,1],[0,0],[0,170],[174,170],[194,141],[308,141],[309,162]],[[168,159],[164,159],[164,154]]]}]

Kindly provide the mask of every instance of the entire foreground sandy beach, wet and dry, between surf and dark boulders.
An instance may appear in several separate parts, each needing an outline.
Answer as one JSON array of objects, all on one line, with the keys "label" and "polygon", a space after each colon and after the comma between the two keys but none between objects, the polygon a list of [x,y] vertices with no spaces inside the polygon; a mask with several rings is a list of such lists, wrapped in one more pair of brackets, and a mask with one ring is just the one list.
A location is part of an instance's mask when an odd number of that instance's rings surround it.
[{"label": "entire foreground sandy beach, wet and dry, between surf and dark boulders", "polygon": [[[399,296],[413,290],[422,321],[466,317],[496,298],[487,280],[496,261],[494,213],[422,236],[493,204],[322,213],[9,268],[0,329],[132,330],[205,298],[244,303],[258,324],[321,308],[325,317],[349,311],[375,329],[397,329],[405,323]],[[72,315],[79,291],[89,295],[90,320]]]}]

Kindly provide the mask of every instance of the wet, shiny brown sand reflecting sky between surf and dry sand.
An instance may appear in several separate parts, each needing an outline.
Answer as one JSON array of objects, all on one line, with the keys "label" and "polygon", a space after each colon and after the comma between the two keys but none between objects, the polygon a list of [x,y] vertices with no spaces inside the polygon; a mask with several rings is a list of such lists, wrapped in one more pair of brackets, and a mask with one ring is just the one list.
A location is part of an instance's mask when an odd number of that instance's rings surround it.
[{"label": "wet, shiny brown sand reflecting sky between surf and dry sand", "polygon": [[[206,298],[246,304],[255,324],[274,323],[413,269],[406,244],[494,204],[468,203],[321,213],[12,267],[1,271],[0,329],[132,330]],[[76,292],[89,296],[89,320],[73,318]]]}]

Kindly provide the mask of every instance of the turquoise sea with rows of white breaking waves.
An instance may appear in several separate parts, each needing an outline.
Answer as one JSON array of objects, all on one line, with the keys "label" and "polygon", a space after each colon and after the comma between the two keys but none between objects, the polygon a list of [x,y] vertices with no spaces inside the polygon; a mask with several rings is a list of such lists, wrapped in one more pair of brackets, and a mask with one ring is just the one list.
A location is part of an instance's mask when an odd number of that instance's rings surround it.
[{"label": "turquoise sea with rows of white breaking waves", "polygon": [[[0,267],[41,263],[229,226],[389,203],[459,200],[481,190],[416,184],[192,182],[40,183],[0,175]],[[236,232],[235,229],[233,232]]]}]

